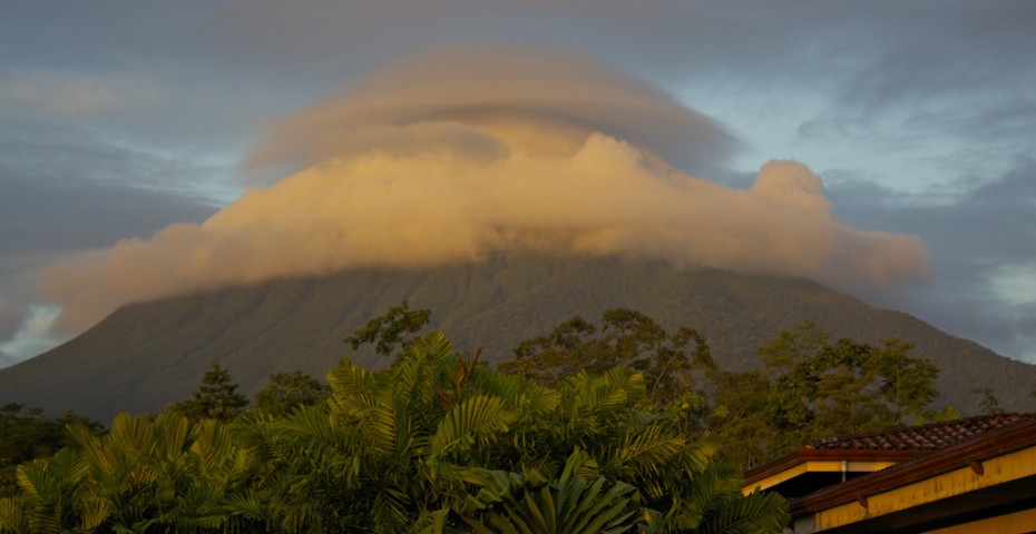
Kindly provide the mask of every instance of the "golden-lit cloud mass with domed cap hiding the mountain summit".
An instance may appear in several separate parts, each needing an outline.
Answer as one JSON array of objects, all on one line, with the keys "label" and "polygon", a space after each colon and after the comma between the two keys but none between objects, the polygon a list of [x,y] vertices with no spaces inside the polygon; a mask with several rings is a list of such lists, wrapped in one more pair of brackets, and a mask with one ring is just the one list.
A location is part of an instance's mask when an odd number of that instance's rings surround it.
[{"label": "golden-lit cloud mass with domed cap hiding the mountain summit", "polygon": [[749,189],[684,170],[732,142],[577,57],[439,50],[272,126],[250,165],[300,171],[202,224],[61,261],[42,288],[81,329],[129,300],[497,251],[646,256],[841,287],[926,274],[918,239],[847,227],[801,164],[771,161]]}]

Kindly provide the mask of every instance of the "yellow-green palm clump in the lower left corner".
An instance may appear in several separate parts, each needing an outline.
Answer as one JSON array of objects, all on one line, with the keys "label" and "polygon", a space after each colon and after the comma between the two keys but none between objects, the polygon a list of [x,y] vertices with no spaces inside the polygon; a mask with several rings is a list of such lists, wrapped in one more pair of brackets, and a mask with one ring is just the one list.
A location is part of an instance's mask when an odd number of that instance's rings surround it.
[{"label": "yellow-green palm clump in the lower left corner", "polygon": [[215,419],[167,412],[119,415],[97,436],[19,467],[20,493],[0,501],[0,532],[216,533],[262,526],[236,513],[248,493],[247,453]]}]

